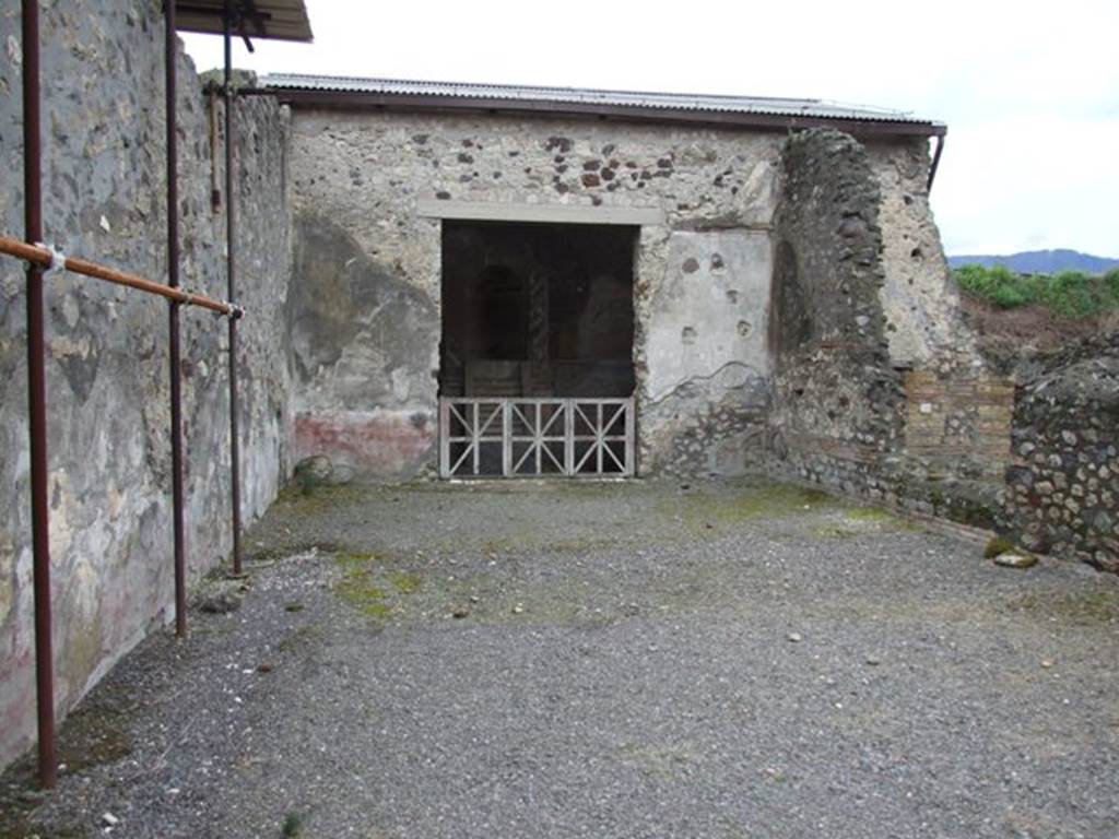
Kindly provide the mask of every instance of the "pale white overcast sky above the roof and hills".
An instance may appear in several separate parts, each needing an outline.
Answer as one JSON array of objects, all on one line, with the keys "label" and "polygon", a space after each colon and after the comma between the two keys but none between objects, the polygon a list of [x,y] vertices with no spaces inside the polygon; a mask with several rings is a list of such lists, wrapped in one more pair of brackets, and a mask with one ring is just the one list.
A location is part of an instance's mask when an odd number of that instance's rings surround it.
[{"label": "pale white overcast sky above the roof and hills", "polygon": [[[950,254],[1119,257],[1119,2],[307,0],[313,45],[239,41],[258,73],[826,98],[948,123]],[[199,69],[222,40],[187,36]]]}]

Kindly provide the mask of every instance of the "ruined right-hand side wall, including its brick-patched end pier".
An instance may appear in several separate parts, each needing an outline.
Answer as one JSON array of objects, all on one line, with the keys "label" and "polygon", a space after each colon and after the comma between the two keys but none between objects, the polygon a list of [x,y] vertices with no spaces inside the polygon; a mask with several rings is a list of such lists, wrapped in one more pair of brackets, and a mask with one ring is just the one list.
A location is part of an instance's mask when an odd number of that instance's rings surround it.
[{"label": "ruined right-hand side wall, including its brick-patched end pier", "polygon": [[[924,175],[919,162],[925,161]],[[777,214],[771,469],[994,526],[1013,383],[968,348],[928,213],[927,152],[790,138]]]}]

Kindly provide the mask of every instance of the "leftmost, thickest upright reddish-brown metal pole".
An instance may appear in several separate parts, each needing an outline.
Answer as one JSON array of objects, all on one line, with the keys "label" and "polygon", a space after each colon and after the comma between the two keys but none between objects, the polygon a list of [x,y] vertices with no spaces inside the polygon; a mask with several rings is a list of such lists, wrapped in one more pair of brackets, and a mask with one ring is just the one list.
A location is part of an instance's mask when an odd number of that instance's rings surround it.
[{"label": "leftmost, thickest upright reddish-brown metal pole", "polygon": [[[43,147],[39,102],[39,4],[23,13],[23,224],[30,244],[43,242]],[[58,779],[55,756],[55,678],[50,639],[50,520],[47,506],[47,371],[43,268],[27,267],[27,396],[31,432],[31,549],[35,556],[35,676],[39,724],[39,784]]]}]

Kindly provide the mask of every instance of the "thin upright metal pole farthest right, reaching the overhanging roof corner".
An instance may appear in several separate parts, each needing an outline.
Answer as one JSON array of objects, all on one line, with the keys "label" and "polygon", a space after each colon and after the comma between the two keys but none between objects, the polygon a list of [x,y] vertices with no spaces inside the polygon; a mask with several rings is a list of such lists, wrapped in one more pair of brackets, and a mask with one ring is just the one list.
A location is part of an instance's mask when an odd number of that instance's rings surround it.
[{"label": "thin upright metal pole farthest right, reaching the overhanging roof corner", "polygon": [[[237,299],[237,196],[234,192],[233,0],[225,0],[225,219],[226,281]],[[233,505],[233,573],[241,574],[241,432],[237,398],[237,319],[229,318],[229,494]]]}]

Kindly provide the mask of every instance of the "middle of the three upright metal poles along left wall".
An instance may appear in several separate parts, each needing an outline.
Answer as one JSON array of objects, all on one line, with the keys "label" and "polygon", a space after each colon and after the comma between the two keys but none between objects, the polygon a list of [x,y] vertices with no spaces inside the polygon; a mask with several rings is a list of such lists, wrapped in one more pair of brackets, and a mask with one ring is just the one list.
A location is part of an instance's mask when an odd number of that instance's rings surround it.
[{"label": "middle of the three upright metal poles along left wall", "polygon": [[[164,89],[167,94],[167,284],[179,285],[179,143],[176,113],[177,39],[175,0],[163,13]],[[182,516],[182,356],[179,340],[179,304],[168,305],[171,376],[171,507],[175,528],[175,634],[187,634],[187,555]]]}]

